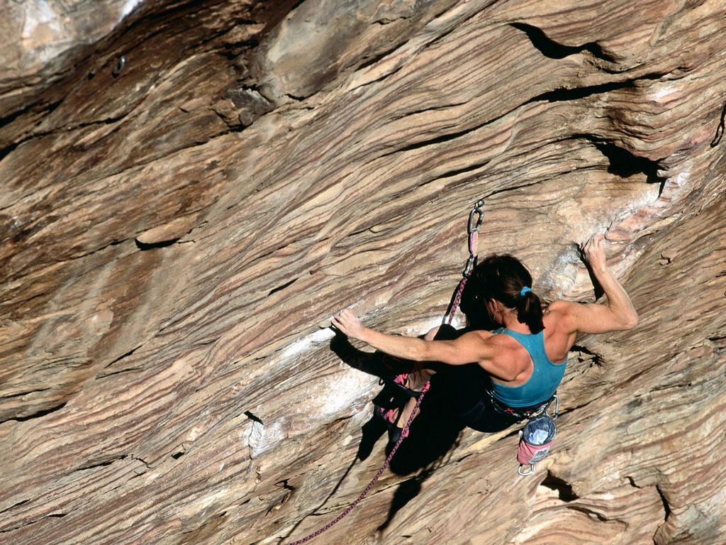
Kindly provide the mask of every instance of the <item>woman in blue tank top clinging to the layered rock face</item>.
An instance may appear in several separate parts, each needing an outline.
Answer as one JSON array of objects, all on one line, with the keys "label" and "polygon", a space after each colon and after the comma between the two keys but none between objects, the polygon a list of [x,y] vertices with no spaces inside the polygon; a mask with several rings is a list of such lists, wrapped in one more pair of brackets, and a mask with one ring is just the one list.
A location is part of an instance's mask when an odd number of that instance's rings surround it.
[{"label": "woman in blue tank top clinging to the layered rock face", "polygon": [[[455,392],[452,402],[463,423],[484,432],[499,431],[552,398],[578,334],[637,326],[635,307],[608,270],[603,241],[601,233],[592,235],[582,254],[608,296],[607,304],[555,301],[543,310],[521,262],[510,255],[492,255],[476,266],[470,283],[476,304],[486,308],[499,329],[457,335],[451,326],[440,326],[423,338],[405,337],[367,328],[348,309],[335,315],[333,326],[388,355],[423,363],[417,373],[409,374],[409,379],[418,377],[419,387],[436,368],[437,378]],[[457,368],[467,372],[458,373]],[[412,399],[388,423],[400,429],[414,406]]]}]

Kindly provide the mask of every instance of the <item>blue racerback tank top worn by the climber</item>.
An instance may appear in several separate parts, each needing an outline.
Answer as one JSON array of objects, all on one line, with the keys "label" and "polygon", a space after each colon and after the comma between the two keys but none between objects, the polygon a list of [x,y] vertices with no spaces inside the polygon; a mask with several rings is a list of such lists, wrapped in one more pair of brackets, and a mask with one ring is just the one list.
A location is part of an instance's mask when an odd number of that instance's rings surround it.
[{"label": "blue racerback tank top worn by the climber", "polygon": [[565,375],[567,359],[558,365],[547,358],[547,352],[544,352],[544,331],[532,335],[500,328],[494,333],[502,333],[515,339],[526,348],[534,363],[532,376],[521,386],[505,386],[492,381],[491,392],[494,399],[508,407],[531,407],[550,399]]}]

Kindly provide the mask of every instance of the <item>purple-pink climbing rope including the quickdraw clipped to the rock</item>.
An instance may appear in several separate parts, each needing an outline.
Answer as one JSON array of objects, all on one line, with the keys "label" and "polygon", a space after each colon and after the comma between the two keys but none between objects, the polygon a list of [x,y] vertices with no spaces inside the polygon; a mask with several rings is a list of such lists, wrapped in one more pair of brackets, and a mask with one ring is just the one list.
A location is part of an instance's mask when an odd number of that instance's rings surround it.
[{"label": "purple-pink climbing rope including the quickdraw clipped to the rock", "polygon": [[[464,286],[466,286],[466,282],[471,276],[471,273],[474,269],[474,265],[476,265],[476,244],[477,244],[477,238],[478,238],[478,231],[479,227],[481,227],[481,222],[484,220],[484,211],[481,209],[481,207],[484,206],[484,199],[480,199],[479,201],[476,201],[476,204],[474,205],[474,208],[469,214],[469,223],[467,227],[468,231],[468,237],[469,237],[469,258],[466,260],[466,265],[464,267],[464,272],[462,273],[462,279],[459,281],[459,286],[457,287],[457,291],[454,294],[454,297],[452,299],[452,302],[449,304],[449,308],[446,310],[446,315],[444,315],[444,323],[452,323],[452,319],[454,316],[454,313],[457,311],[457,308],[459,307],[459,303],[461,302],[461,295],[464,291]],[[411,416],[409,416],[408,421],[406,422],[406,425],[401,429],[401,435],[399,439],[396,441],[396,444],[393,445],[393,448],[391,448],[391,452],[388,453],[388,456],[386,457],[386,461],[383,462],[383,465],[378,469],[378,472],[373,476],[370,483],[368,483],[367,487],[360,493],[360,496],[358,496],[353,503],[348,505],[346,507],[346,510],[340,513],[337,517],[335,517],[333,520],[328,522],[325,526],[322,528],[319,528],[318,530],[315,530],[313,533],[311,533],[309,536],[305,536],[304,538],[298,539],[298,541],[293,541],[289,545],[301,545],[303,543],[306,543],[307,541],[310,541],[313,538],[317,538],[321,533],[326,532],[327,530],[330,530],[330,528],[333,528],[340,520],[343,520],[346,515],[351,512],[353,509],[355,509],[356,505],[358,505],[361,501],[363,501],[363,498],[365,498],[368,493],[373,488],[373,485],[378,481],[381,475],[383,475],[383,472],[386,471],[386,468],[391,464],[391,460],[393,459],[393,455],[396,454],[396,451],[399,450],[399,446],[401,443],[403,443],[403,440],[408,436],[409,427],[411,427],[411,423],[415,416],[418,413],[418,409],[421,406],[421,402],[423,401],[423,397],[428,392],[428,388],[431,385],[431,381],[426,381],[426,384],[424,384],[423,388],[421,389],[421,393],[418,396],[418,399],[416,400],[416,405],[411,411]]]}]

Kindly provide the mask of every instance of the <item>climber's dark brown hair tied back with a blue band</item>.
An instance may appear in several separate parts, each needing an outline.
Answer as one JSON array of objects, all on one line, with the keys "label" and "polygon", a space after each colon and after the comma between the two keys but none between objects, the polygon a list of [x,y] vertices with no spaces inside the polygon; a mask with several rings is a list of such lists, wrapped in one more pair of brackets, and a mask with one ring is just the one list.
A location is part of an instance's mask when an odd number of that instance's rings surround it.
[{"label": "climber's dark brown hair tied back with a blue band", "polygon": [[491,255],[476,265],[476,298],[480,304],[495,299],[507,308],[517,310],[517,319],[526,323],[532,334],[544,329],[542,302],[529,287],[532,276],[516,257]]}]

